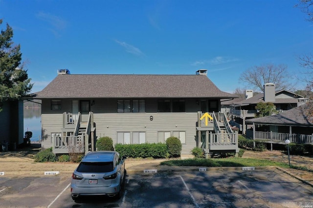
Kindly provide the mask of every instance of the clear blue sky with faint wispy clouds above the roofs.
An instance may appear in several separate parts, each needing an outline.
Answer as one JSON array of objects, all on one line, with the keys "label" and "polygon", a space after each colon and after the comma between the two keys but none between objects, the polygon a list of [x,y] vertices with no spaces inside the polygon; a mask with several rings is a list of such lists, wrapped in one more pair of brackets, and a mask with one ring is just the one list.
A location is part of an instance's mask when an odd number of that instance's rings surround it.
[{"label": "clear blue sky with faint wispy clouds above the roofs", "polygon": [[0,0],[33,92],[71,74],[195,74],[225,92],[243,71],[286,64],[296,87],[313,25],[297,0]]}]

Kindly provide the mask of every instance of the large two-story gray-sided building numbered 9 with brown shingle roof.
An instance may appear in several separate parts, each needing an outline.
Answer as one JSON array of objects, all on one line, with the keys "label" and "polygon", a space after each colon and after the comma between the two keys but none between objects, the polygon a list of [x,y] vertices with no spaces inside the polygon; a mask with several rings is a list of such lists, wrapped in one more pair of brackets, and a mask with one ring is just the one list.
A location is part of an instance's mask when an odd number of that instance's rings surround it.
[{"label": "large two-story gray-sided building numbered 9 with brown shingle roof", "polygon": [[208,130],[196,131],[198,112],[219,112],[221,99],[236,97],[219,90],[206,70],[196,75],[73,75],[63,70],[34,94],[42,100],[42,147],[53,146],[55,153],[68,153],[70,144],[85,146],[82,152],[94,150],[96,138],[103,136],[113,144],[164,143],[176,136],[181,154],[190,154],[201,145],[198,132]]}]

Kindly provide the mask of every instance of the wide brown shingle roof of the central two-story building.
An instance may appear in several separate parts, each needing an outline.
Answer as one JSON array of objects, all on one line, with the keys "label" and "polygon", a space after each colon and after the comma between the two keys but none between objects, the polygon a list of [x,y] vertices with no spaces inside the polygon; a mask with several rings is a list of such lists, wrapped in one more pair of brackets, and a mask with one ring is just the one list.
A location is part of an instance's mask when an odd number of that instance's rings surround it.
[{"label": "wide brown shingle roof of the central two-story building", "polygon": [[36,98],[234,98],[204,75],[58,75]]}]

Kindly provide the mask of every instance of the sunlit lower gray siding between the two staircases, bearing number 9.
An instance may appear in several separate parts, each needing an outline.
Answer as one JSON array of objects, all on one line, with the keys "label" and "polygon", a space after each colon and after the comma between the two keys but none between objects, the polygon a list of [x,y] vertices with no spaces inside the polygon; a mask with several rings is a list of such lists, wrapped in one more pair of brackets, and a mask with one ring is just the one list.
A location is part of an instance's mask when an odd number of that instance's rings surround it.
[{"label": "sunlit lower gray siding between the two staircases, bearing number 9", "polygon": [[[153,116],[153,121],[150,121]],[[99,113],[94,114],[96,136],[109,136],[117,143],[117,132],[146,132],[147,143],[157,143],[158,131],[185,131],[182,154],[190,154],[196,146],[197,113]]]}]

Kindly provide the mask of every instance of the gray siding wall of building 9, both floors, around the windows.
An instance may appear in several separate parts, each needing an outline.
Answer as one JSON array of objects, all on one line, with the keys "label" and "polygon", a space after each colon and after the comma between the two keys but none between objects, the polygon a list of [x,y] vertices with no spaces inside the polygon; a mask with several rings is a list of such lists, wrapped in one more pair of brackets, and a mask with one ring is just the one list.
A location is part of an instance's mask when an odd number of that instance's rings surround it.
[{"label": "gray siding wall of building 9, both floors, around the windows", "polygon": [[[42,101],[42,146],[52,146],[51,133],[61,133],[63,128],[63,112],[72,112],[72,100],[62,99],[61,110],[51,110],[50,99]],[[121,99],[123,100],[123,99]],[[124,99],[126,100],[126,99]],[[130,99],[131,100],[131,99]],[[140,100],[140,99],[138,99]],[[158,99],[144,99],[145,113],[116,113],[117,99],[90,99],[94,105],[90,110],[94,113],[97,138],[109,136],[113,143],[117,143],[117,132],[145,132],[147,143],[157,143],[158,131],[184,131],[186,143],[182,144],[181,154],[191,154],[190,151],[196,146],[196,122],[197,111],[200,105],[197,99],[184,99],[186,112],[180,113],[157,113]],[[153,121],[150,121],[153,116]]]}]

